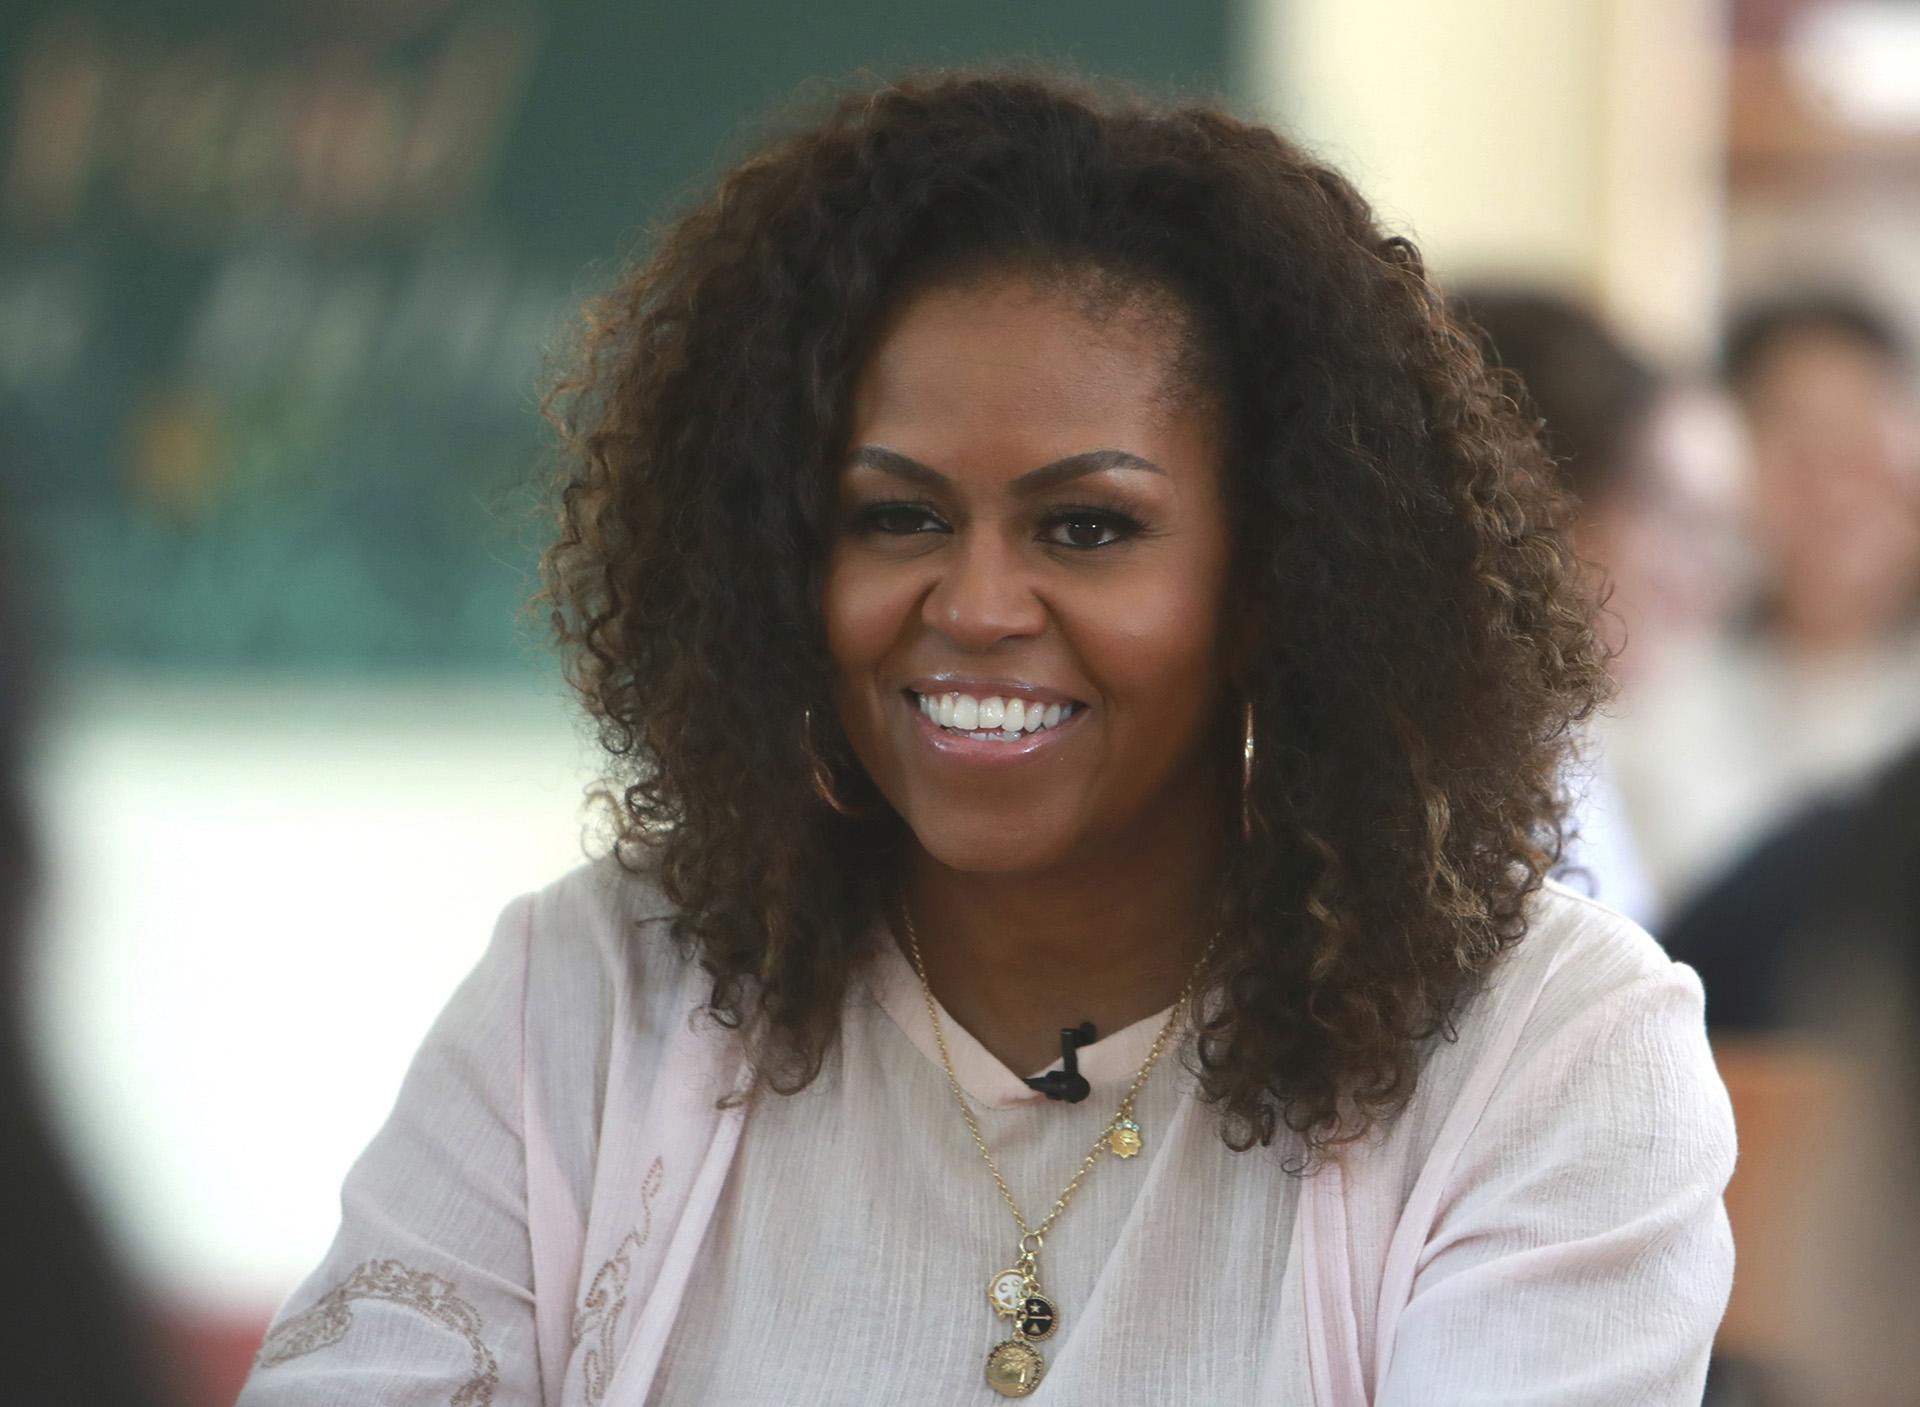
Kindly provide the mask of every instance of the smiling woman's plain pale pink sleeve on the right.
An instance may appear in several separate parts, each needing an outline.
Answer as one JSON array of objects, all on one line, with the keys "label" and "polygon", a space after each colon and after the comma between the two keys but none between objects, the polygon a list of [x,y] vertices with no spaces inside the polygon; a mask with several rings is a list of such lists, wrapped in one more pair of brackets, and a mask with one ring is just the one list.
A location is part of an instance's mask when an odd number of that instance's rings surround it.
[{"label": "smiling woman's plain pale pink sleeve on the right", "polygon": [[1692,971],[1571,1017],[1496,1088],[1400,1313],[1377,1407],[1697,1407],[1734,1246],[1734,1121]]}]

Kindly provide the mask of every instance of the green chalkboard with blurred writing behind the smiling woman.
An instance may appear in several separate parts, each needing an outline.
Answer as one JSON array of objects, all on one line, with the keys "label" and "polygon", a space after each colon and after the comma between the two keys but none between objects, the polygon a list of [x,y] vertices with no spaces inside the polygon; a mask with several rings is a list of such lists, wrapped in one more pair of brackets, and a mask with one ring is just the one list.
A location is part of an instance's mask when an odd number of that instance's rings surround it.
[{"label": "green chalkboard with blurred writing behind the smiling woman", "polygon": [[69,660],[495,670],[541,349],[772,113],[858,71],[1217,92],[1225,0],[0,10],[0,484]]}]

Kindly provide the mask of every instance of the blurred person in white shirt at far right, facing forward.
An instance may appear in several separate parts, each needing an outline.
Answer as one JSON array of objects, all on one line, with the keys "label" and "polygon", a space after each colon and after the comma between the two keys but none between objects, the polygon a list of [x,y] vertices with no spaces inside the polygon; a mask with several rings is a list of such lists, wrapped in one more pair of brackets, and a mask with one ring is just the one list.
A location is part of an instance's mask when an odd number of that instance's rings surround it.
[{"label": "blurred person in white shirt at far right, facing forward", "polygon": [[1920,733],[1920,409],[1905,342],[1839,296],[1728,328],[1753,461],[1749,605],[1667,672],[1613,756],[1678,910],[1786,816]]}]

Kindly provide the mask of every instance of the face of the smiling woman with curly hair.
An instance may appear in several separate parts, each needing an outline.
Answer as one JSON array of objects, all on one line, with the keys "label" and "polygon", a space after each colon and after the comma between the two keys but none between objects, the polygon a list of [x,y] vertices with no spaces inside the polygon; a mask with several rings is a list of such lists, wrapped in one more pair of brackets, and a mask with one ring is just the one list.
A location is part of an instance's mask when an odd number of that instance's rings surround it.
[{"label": "face of the smiling woman with curly hair", "polygon": [[824,614],[847,737],[920,845],[1039,871],[1221,804],[1229,534],[1183,311],[935,286],[854,388]]}]

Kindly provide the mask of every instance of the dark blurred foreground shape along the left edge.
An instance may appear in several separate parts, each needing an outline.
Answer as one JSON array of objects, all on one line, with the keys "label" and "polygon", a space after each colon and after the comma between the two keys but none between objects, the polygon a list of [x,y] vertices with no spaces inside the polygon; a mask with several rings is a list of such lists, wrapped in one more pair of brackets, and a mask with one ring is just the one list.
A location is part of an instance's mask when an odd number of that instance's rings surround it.
[{"label": "dark blurred foreground shape along the left edge", "polygon": [[27,929],[35,845],[27,812],[33,703],[29,608],[0,499],[0,1399],[8,1407],[161,1407],[119,1269],[54,1136],[27,1038]]}]

